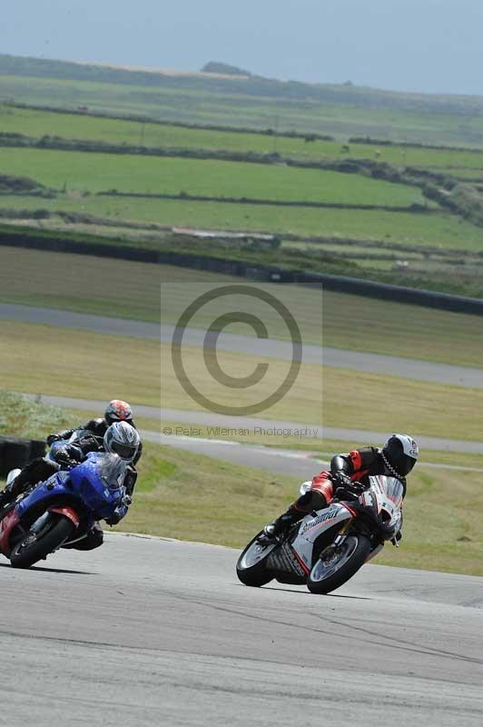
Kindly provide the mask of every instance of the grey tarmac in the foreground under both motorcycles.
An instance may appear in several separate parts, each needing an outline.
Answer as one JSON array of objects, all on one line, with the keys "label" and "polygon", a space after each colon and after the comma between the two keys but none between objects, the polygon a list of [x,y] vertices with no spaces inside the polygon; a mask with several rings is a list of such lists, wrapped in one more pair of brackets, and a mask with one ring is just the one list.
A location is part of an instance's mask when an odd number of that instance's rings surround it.
[{"label": "grey tarmac in the foreground under both motorcycles", "polygon": [[4,562],[2,723],[481,727],[482,579],[370,564],[314,596],[243,586],[237,554],[113,534]]}]

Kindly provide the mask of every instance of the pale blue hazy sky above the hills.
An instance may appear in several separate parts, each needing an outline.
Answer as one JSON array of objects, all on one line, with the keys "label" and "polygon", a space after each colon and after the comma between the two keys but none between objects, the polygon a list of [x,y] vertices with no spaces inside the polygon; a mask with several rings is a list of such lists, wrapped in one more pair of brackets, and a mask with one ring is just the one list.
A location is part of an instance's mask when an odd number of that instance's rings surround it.
[{"label": "pale blue hazy sky above the hills", "polygon": [[483,0],[0,0],[0,53],[483,95]]}]

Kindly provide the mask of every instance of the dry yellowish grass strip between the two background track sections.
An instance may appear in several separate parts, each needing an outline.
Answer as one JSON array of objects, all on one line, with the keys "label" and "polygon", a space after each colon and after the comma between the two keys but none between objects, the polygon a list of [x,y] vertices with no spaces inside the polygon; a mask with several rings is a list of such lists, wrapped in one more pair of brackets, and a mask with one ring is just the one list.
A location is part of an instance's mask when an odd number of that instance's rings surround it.
[{"label": "dry yellowish grass strip between the two background track sections", "polygon": [[[199,409],[174,377],[167,355],[160,365],[156,342],[91,334],[34,324],[0,322],[2,382],[6,389],[109,401],[114,393],[131,403]],[[166,353],[167,346],[163,346]],[[128,361],[133,367],[126,365]],[[233,405],[251,403],[251,392],[227,394],[205,371],[199,349],[187,347],[184,361],[203,393]],[[251,373],[260,359],[221,354],[228,373]],[[95,362],[95,377],[92,366]],[[286,363],[268,360],[269,373],[257,395],[287,371]],[[163,378],[161,378],[160,371]],[[133,372],[135,375],[133,375]],[[390,392],[390,405],[384,402]],[[251,398],[250,398],[251,397]],[[380,406],[374,406],[380,402]],[[450,405],[449,405],[450,403]],[[350,413],[350,415],[349,415]],[[455,439],[478,440],[483,427],[483,392],[420,383],[371,373],[354,373],[302,364],[301,375],[285,398],[262,414],[301,423],[377,431],[410,431]]]}]

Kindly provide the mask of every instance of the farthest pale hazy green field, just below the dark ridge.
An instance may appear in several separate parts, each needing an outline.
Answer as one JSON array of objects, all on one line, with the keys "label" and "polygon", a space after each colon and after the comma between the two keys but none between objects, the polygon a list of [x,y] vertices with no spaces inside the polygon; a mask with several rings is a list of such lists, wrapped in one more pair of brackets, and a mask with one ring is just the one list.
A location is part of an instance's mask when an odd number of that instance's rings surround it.
[{"label": "farthest pale hazy green field, just below the dark ridge", "polygon": [[[252,96],[231,91],[213,92],[209,88],[167,87],[123,83],[94,83],[81,80],[0,75],[3,99],[34,105],[77,108],[87,105],[100,111],[119,114],[150,115],[154,119],[187,121],[227,126],[252,126],[280,130],[332,134],[340,139],[367,135],[426,144],[483,145],[483,120],[480,115],[465,116],[461,124],[460,109],[441,110],[392,107],[364,107],[360,90],[354,104],[300,98]],[[338,91],[337,86],[333,90]],[[409,101],[411,95],[408,96]]]}]

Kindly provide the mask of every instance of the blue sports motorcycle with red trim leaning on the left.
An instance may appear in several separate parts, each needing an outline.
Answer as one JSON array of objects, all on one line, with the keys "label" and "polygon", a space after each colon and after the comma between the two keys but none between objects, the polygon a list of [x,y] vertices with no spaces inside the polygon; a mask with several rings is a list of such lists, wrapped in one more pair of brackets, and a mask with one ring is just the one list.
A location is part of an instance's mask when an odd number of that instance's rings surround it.
[{"label": "blue sports motorcycle with red trim leaning on the left", "polygon": [[96,521],[114,513],[122,518],[131,503],[125,473],[117,454],[92,452],[38,483],[0,513],[0,553],[15,568],[30,568],[82,540]]}]

